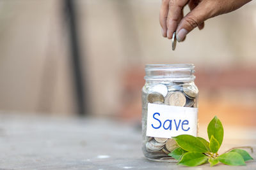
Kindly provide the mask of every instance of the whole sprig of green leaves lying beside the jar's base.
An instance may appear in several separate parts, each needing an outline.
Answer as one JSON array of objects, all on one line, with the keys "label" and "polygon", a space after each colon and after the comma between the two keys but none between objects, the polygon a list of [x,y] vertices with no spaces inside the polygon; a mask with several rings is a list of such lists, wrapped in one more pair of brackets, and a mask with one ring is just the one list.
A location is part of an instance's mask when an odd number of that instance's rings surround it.
[{"label": "whole sprig of green leaves lying beside the jar's base", "polygon": [[178,160],[179,165],[199,166],[207,162],[215,166],[219,162],[229,166],[244,166],[245,161],[252,160],[248,152],[235,148],[221,155],[218,150],[223,141],[224,130],[218,119],[214,117],[207,127],[209,142],[204,138],[182,134],[173,137],[179,148],[169,153],[171,157]]}]

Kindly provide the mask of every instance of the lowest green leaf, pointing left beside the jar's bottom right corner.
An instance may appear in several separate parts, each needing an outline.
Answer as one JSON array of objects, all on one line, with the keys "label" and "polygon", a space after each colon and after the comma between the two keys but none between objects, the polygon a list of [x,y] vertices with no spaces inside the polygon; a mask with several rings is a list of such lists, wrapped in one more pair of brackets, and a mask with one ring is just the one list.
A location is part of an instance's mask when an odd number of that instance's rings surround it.
[{"label": "lowest green leaf, pointing left beside the jar's bottom right corner", "polygon": [[207,161],[207,156],[198,152],[187,152],[182,156],[179,165],[199,166]]}]

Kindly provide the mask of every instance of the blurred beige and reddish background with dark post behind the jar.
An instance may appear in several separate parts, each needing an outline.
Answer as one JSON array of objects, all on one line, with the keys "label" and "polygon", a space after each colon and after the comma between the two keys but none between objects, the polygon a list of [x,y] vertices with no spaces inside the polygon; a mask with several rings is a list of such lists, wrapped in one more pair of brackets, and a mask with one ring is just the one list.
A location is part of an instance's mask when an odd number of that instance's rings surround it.
[{"label": "blurred beige and reddish background with dark post behind the jar", "polygon": [[[1,0],[1,114],[138,122],[145,64],[193,63],[199,119],[256,127],[256,2],[211,18],[175,52],[160,0]],[[188,12],[188,8],[185,8]]]}]

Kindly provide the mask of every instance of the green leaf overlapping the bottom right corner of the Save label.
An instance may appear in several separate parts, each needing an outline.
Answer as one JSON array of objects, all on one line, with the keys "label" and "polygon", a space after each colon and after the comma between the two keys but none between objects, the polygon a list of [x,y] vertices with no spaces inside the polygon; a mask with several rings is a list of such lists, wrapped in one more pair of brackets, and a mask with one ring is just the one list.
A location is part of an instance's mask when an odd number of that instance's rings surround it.
[{"label": "green leaf overlapping the bottom right corner of the Save label", "polygon": [[207,148],[200,141],[200,139],[196,138],[195,136],[191,136],[189,134],[181,134],[179,136],[173,137],[173,139],[175,139],[180,148],[188,152],[207,152]]}]

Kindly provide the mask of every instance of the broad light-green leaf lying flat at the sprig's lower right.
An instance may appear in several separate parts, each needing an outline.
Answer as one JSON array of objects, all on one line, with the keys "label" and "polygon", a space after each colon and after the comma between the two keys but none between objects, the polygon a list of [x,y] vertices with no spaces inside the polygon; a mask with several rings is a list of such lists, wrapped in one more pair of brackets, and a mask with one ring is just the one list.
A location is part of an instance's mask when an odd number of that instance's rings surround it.
[{"label": "broad light-green leaf lying flat at the sprig's lower right", "polygon": [[220,155],[220,157],[218,157],[218,160],[229,166],[245,166],[243,157],[236,152],[223,153]]}]

